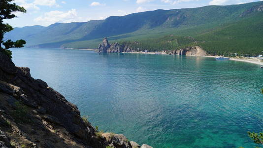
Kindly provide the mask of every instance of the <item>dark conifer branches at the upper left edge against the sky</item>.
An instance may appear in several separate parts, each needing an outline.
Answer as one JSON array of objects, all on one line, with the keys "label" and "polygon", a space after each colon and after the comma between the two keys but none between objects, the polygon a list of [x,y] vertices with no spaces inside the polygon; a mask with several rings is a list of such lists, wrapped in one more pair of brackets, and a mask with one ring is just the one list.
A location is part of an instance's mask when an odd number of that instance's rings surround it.
[{"label": "dark conifer branches at the upper left edge against the sky", "polygon": [[[8,50],[9,48],[20,48],[24,47],[26,41],[23,39],[12,41],[10,39],[3,40],[3,35],[7,32],[13,30],[12,26],[9,24],[4,24],[4,19],[12,19],[15,18],[15,12],[24,12],[26,13],[26,9],[16,5],[13,3],[14,0],[0,0],[0,50],[4,51],[11,58],[12,52]],[[4,45],[4,48],[2,47]]]}]

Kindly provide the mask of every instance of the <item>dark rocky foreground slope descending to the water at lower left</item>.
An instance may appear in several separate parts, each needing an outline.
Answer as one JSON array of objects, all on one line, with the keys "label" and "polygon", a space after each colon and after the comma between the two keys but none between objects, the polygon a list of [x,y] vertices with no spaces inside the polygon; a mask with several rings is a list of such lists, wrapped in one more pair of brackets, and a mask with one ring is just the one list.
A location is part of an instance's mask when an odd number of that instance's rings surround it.
[{"label": "dark rocky foreground slope descending to the water at lower left", "polygon": [[0,148],[108,146],[139,148],[123,135],[97,131],[63,95],[0,51]]}]

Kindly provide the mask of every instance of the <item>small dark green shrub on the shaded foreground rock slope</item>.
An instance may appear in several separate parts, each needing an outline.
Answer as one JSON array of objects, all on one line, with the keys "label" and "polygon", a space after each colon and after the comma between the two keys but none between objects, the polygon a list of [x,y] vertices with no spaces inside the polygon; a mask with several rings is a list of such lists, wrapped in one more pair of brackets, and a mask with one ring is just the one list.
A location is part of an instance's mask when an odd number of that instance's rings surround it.
[{"label": "small dark green shrub on the shaded foreground rock slope", "polygon": [[26,123],[30,121],[28,108],[19,101],[15,103],[15,110],[12,111],[12,117],[18,123]]}]

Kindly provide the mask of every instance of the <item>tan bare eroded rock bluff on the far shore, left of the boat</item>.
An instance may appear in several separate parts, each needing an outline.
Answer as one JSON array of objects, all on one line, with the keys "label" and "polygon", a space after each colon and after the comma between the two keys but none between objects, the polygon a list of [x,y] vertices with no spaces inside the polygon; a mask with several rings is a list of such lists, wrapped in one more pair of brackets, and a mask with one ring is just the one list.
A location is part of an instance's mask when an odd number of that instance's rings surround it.
[{"label": "tan bare eroded rock bluff on the far shore, left of the boat", "polygon": [[195,55],[195,56],[207,56],[207,53],[200,48],[199,46],[179,49],[179,50],[172,50],[166,52],[170,55]]}]

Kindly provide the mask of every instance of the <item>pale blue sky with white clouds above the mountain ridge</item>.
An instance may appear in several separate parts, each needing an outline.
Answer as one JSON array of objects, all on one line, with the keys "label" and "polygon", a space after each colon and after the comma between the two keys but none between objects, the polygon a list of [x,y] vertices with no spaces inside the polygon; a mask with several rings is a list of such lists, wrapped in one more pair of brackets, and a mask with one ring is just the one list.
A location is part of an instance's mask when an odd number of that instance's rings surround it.
[{"label": "pale blue sky with white clouds above the mountain ridge", "polygon": [[109,16],[156,9],[191,8],[205,5],[229,5],[262,0],[15,0],[27,13],[5,20],[13,27],[48,26],[56,22],[87,22]]}]

